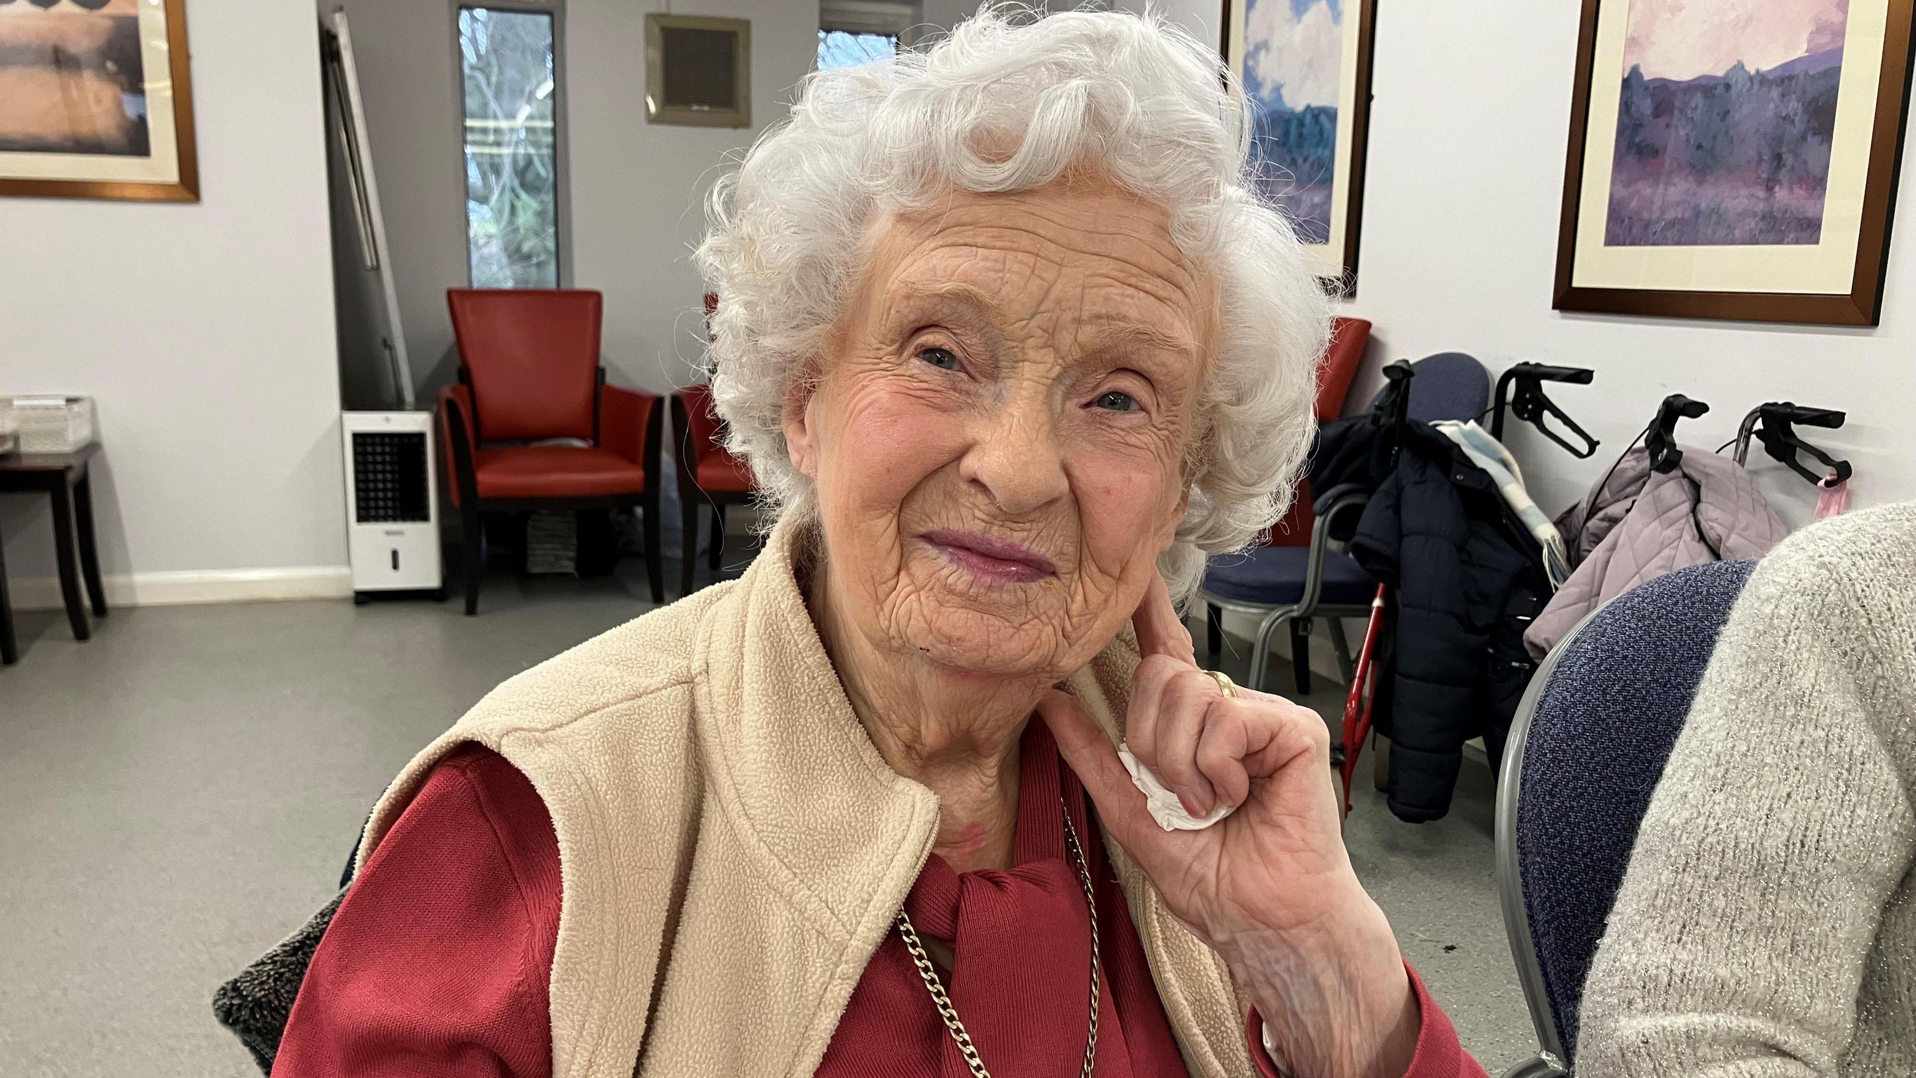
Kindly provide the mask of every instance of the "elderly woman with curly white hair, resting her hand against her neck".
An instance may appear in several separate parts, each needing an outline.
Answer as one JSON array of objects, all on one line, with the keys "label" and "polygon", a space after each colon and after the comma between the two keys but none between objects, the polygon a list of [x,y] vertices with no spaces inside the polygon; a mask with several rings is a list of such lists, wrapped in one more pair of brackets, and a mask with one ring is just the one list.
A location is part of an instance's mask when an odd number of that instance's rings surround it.
[{"label": "elderly woman with curly white hair, resting her hand against her neck", "polygon": [[1284,504],[1326,334],[1243,163],[1132,15],[810,77],[697,253],[764,552],[404,769],[276,1074],[1481,1074],[1322,719],[1175,612]]}]

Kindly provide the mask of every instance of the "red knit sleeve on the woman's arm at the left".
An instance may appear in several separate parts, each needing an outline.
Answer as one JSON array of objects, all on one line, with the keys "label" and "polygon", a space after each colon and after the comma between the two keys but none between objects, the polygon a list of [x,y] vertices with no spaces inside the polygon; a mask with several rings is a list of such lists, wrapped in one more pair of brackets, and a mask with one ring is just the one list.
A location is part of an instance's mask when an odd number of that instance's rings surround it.
[{"label": "red knit sleeve on the woman's arm at the left", "polygon": [[558,930],[544,802],[502,756],[454,752],[339,903],[274,1078],[550,1078]]}]

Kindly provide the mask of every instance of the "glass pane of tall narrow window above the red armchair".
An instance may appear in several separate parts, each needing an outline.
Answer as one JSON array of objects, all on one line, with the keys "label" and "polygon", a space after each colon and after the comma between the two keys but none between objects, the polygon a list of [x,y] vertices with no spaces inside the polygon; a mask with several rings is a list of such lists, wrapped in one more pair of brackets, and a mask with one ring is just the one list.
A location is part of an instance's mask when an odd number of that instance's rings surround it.
[{"label": "glass pane of tall narrow window above the red armchair", "polygon": [[473,288],[558,288],[552,15],[460,8]]}]

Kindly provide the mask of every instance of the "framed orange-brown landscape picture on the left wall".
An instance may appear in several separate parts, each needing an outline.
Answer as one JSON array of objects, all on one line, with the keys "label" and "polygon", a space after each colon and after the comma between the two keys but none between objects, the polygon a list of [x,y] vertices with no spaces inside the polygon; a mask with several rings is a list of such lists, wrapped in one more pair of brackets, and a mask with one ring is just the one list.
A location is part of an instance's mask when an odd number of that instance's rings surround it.
[{"label": "framed orange-brown landscape picture on the left wall", "polygon": [[199,201],[186,0],[0,0],[0,196]]}]

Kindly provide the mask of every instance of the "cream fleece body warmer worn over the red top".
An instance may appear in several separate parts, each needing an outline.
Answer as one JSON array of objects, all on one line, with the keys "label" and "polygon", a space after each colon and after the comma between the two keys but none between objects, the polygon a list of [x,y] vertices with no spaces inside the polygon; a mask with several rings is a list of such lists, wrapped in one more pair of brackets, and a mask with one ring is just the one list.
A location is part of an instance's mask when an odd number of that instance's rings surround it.
[{"label": "cream fleece body warmer worn over the red top", "polygon": [[[858,725],[782,526],[751,570],[494,689],[374,809],[360,865],[464,742],[552,811],[563,902],[556,1078],[812,1074],[937,834],[939,804]],[[1121,737],[1129,635],[1065,681]],[[1194,1078],[1255,1074],[1249,1001],[1109,838]]]}]

